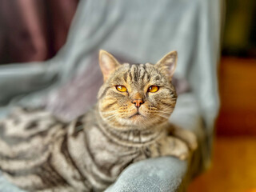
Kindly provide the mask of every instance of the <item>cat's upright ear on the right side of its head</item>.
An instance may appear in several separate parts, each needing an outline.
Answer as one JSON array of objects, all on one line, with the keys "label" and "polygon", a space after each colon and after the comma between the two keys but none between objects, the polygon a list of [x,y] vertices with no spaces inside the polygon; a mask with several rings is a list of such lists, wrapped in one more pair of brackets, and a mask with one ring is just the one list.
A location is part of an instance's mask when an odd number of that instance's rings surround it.
[{"label": "cat's upright ear on the right side of its head", "polygon": [[155,66],[163,74],[166,74],[166,76],[169,79],[171,79],[176,69],[177,60],[178,60],[178,53],[176,50],[174,50],[166,54],[163,58],[161,58]]}]

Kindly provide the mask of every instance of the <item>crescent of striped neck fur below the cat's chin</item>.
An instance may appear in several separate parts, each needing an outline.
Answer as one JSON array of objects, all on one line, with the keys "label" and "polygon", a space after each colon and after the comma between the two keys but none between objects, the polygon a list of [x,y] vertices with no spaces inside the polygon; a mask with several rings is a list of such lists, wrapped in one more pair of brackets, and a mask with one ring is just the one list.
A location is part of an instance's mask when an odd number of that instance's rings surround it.
[{"label": "crescent of striped neck fur below the cat's chin", "polygon": [[98,105],[95,108],[94,113],[98,126],[106,137],[124,146],[143,146],[149,144],[150,142],[154,142],[165,134],[165,128],[168,124],[166,121],[162,122],[161,125],[143,127],[143,129],[139,126],[114,127],[102,119],[101,115],[99,114]]}]

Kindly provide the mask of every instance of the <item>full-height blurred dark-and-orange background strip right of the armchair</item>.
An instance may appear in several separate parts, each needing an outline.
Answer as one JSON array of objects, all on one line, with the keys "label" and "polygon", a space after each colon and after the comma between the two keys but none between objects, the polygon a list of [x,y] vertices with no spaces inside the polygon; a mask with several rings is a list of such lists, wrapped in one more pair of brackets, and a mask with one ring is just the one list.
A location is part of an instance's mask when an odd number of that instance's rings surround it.
[{"label": "full-height blurred dark-and-orange background strip right of the armchair", "polygon": [[189,191],[256,191],[256,1],[226,0],[210,170]]}]

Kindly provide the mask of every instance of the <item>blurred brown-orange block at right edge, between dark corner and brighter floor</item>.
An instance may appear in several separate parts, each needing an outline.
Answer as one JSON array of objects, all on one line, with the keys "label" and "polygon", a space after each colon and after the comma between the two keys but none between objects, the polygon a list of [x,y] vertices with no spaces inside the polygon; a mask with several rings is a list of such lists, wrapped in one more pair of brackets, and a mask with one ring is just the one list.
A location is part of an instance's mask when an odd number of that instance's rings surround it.
[{"label": "blurred brown-orange block at right edge, between dark corner and brighter floor", "polygon": [[256,59],[222,57],[217,134],[256,136]]}]

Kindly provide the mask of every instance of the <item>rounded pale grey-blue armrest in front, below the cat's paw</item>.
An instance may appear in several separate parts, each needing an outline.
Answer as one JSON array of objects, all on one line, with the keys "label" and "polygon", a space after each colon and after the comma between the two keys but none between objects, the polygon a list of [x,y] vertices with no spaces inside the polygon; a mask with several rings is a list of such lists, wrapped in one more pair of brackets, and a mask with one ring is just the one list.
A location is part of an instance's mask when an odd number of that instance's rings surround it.
[{"label": "rounded pale grey-blue armrest in front, below the cat's paw", "polygon": [[150,158],[128,166],[106,192],[182,191],[186,172],[186,161]]}]

